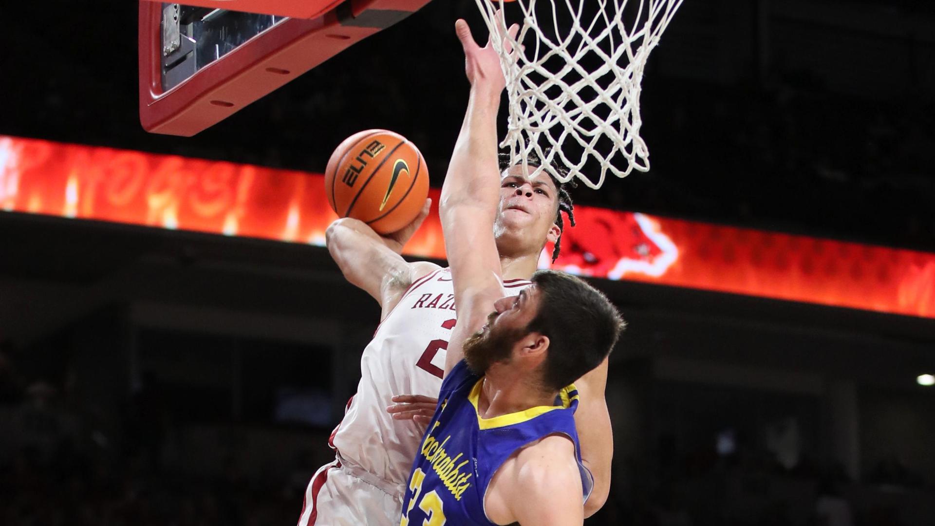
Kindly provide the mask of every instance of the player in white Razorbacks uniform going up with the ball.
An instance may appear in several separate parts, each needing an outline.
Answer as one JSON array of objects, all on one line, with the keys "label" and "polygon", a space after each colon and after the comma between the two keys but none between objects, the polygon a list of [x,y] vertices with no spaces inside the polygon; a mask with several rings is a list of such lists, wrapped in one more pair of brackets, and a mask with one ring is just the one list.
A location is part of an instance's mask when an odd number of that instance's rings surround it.
[{"label": "player in white Razorbacks uniform going up with the ball", "polygon": [[[489,44],[481,50],[496,60]],[[490,141],[496,149],[496,137]],[[526,175],[531,171],[511,167],[504,170],[501,181],[496,247],[504,289],[513,295],[530,284],[546,242],[559,241],[561,210],[571,208],[567,193],[545,172],[531,179]],[[410,226],[388,236],[348,218],[328,228],[329,252],[349,282],[380,302],[381,324],[361,358],[357,394],[329,440],[336,460],[309,482],[298,526],[399,523],[424,429],[411,419],[395,419],[387,406],[396,395],[438,396],[445,349],[456,320],[450,271],[428,262],[409,263],[399,256],[428,208],[426,202]],[[606,383],[606,360],[575,382],[581,397],[575,421],[583,463],[595,478],[585,516],[603,505],[610,489],[612,439]]]}]

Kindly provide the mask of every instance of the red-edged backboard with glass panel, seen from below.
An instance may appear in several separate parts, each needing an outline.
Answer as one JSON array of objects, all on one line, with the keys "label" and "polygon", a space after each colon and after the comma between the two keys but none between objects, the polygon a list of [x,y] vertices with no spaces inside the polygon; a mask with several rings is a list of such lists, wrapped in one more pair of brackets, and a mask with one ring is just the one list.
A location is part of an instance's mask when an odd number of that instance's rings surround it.
[{"label": "red-edged backboard with glass panel, seen from below", "polygon": [[139,120],[152,133],[191,137],[430,0],[190,1],[139,2]]}]

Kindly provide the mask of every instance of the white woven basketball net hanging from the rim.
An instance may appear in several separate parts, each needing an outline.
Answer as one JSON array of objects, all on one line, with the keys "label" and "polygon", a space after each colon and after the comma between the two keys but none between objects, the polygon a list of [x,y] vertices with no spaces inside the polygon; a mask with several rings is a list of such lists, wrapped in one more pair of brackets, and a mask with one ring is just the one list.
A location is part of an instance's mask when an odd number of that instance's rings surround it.
[{"label": "white woven basketball net hanging from the rim", "polygon": [[[517,0],[523,21],[504,51],[508,16],[499,0],[476,0],[492,36],[507,81],[511,162],[525,164],[535,152],[537,171],[562,183],[577,177],[600,188],[607,172],[626,177],[649,170],[649,151],[640,138],[640,81],[650,51],[659,43],[682,0]],[[539,7],[537,8],[537,3]],[[577,3],[577,6],[575,5]],[[636,7],[634,9],[634,7]],[[626,27],[626,19],[630,28]],[[589,158],[599,162],[583,173]],[[563,174],[556,160],[569,168]],[[597,175],[597,178],[594,176]]]}]

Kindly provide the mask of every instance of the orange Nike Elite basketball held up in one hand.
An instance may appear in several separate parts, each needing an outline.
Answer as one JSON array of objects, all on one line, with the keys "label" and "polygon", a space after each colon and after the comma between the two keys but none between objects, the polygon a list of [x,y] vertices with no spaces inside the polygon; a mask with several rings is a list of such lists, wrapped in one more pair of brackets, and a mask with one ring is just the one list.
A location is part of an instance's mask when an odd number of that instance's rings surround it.
[{"label": "orange Nike Elite basketball held up in one hand", "polygon": [[419,149],[387,130],[344,139],[328,160],[324,191],[340,217],[367,223],[381,234],[409,225],[428,197],[428,169]]}]

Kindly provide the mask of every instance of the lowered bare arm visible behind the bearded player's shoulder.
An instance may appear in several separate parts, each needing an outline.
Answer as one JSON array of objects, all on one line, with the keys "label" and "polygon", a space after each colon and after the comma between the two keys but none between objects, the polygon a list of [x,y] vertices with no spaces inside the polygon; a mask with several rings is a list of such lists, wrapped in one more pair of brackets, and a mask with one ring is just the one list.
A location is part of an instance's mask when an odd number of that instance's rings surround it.
[{"label": "lowered bare arm visible behind the bearded player's shoulder", "polygon": [[594,488],[584,503],[584,517],[597,513],[607,502],[611,491],[613,432],[605,398],[607,368],[608,358],[605,358],[596,369],[575,382],[579,396],[575,427],[578,430],[583,464],[594,475]]}]

